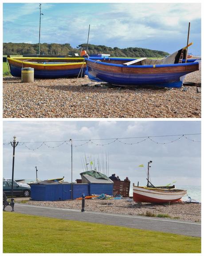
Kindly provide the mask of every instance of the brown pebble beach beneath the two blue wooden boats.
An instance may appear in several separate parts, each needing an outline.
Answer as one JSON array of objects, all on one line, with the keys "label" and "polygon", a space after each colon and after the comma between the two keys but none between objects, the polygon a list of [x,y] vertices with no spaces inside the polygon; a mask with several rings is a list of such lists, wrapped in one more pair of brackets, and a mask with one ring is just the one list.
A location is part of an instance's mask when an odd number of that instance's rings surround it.
[{"label": "brown pebble beach beneath the two blue wooden boats", "polygon": [[[185,82],[201,82],[201,71]],[[3,118],[200,118],[201,93],[183,89],[122,88],[84,78],[3,78]]]}]

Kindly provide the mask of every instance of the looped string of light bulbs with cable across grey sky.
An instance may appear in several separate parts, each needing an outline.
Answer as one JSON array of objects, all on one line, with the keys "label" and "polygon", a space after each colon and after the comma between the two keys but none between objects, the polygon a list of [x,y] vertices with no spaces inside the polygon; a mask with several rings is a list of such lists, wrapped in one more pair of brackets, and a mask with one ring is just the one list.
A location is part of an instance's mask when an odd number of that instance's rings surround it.
[{"label": "looped string of light bulbs with cable across grey sky", "polygon": [[[188,139],[189,141],[192,141],[192,142],[200,142],[198,140],[187,137],[187,136],[192,136],[192,135],[200,135],[200,134],[173,134],[173,135],[157,135],[157,136],[146,136],[146,137],[143,136],[143,137],[126,137],[126,138],[101,138],[101,139],[83,139],[83,140],[71,140],[70,139],[70,140],[64,140],[64,141],[19,142],[19,145],[20,146],[25,146],[28,150],[37,150],[43,145],[47,146],[48,148],[53,148],[54,149],[54,148],[63,146],[63,144],[67,144],[68,146],[74,146],[74,147],[84,146],[88,143],[92,143],[96,146],[107,146],[107,145],[110,145],[114,142],[119,142],[119,143],[122,143],[124,145],[136,145],[136,144],[145,142],[146,140],[149,140],[149,141],[154,142],[156,144],[166,145],[166,144],[169,144],[169,143],[176,142],[176,141],[180,140],[181,138]],[[153,139],[153,138],[176,137],[176,136],[178,138],[170,140],[169,142],[158,142],[155,139]],[[131,142],[131,143],[122,141],[122,140],[125,140],[125,139],[126,140],[128,140],[128,139],[133,140],[133,139],[138,139],[138,138],[143,138],[143,139],[140,140],[140,141]],[[108,143],[98,143],[97,142],[97,141],[104,141],[104,140],[112,140],[112,141],[108,142]],[[60,143],[56,146],[48,145],[48,143],[56,143],[56,142],[60,142]],[[78,144],[78,145],[74,145],[73,142],[83,142],[83,143]],[[5,142],[5,143],[3,143],[3,145],[7,146],[7,145],[10,145],[10,143],[11,142]],[[40,145],[35,147],[35,148],[31,148],[30,146],[28,146],[29,143],[40,143]]]}]

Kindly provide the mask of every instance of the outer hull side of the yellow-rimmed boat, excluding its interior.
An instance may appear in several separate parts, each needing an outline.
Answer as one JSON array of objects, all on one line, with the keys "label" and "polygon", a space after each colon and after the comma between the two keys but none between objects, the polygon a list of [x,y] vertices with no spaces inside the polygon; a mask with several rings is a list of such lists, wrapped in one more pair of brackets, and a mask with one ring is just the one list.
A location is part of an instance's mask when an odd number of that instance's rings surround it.
[{"label": "outer hull side of the yellow-rimmed boat, excluding its interior", "polygon": [[[35,58],[36,60],[36,58]],[[54,60],[53,60],[54,61]],[[8,58],[9,69],[13,77],[21,77],[21,68],[34,68],[35,78],[63,78],[63,77],[84,77],[86,64],[78,63],[55,63],[55,64],[39,64],[32,62],[19,61]],[[83,67],[82,67],[83,66]]]}]

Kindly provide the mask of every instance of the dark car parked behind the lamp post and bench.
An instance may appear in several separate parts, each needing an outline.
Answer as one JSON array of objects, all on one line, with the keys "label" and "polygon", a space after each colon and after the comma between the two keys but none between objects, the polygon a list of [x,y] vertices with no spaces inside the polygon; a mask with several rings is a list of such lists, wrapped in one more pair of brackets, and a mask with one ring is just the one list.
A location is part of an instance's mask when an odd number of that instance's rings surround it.
[{"label": "dark car parked behind the lamp post and bench", "polygon": [[[12,194],[12,182],[3,181],[3,191],[9,196]],[[27,184],[19,184],[16,181],[13,181],[13,195],[16,196],[25,196],[28,197],[31,194],[31,187]]]}]

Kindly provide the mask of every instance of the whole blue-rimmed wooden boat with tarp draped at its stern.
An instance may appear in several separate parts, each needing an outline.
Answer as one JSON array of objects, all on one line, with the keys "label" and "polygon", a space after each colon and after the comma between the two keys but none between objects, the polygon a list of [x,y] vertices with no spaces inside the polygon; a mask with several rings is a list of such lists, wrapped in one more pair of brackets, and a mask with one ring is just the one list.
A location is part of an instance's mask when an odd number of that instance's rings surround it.
[{"label": "whole blue-rimmed wooden boat with tarp draped at its stern", "polygon": [[86,74],[92,81],[112,85],[180,88],[186,74],[199,70],[196,59],[185,63],[184,49],[161,60],[86,57]]}]

